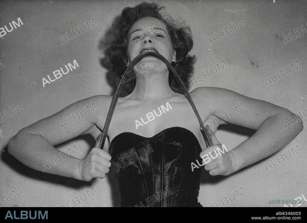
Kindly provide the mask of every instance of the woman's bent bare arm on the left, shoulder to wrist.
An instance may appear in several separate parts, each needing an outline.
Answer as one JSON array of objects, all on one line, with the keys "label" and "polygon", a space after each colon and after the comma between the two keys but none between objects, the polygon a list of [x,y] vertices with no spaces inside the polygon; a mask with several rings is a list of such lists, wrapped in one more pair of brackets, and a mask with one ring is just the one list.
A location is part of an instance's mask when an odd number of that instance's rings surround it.
[{"label": "woman's bent bare arm on the left, shoulder to wrist", "polygon": [[[81,134],[95,134],[93,133],[95,123],[98,118],[106,118],[104,114],[107,114],[110,103],[111,97],[105,95],[97,95],[75,102],[63,110],[21,129],[10,139],[8,152],[35,170],[81,180],[78,167],[80,159],[70,155],[67,157],[65,153],[60,152],[53,145]],[[84,117],[80,115],[80,112]],[[60,157],[62,162],[51,168],[46,167],[46,165],[49,166],[47,160],[53,160],[53,157]]]}]

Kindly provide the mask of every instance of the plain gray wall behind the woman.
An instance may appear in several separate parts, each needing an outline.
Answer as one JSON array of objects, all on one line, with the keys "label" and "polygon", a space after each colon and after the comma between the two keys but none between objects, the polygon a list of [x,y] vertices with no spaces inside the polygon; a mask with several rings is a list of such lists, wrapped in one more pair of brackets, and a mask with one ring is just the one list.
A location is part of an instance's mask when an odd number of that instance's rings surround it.
[{"label": "plain gray wall behind the woman", "polygon": [[[23,110],[0,122],[0,144],[5,152],[0,155],[0,197],[10,199],[12,190],[20,187],[23,194],[3,206],[73,206],[72,198],[91,191],[97,194],[78,206],[119,206],[119,192],[114,172],[107,178],[84,183],[74,179],[34,171],[19,163],[7,153],[6,144],[20,129],[50,116],[64,107],[97,94],[112,94],[101,65],[103,53],[99,42],[115,16],[124,7],[135,6],[142,1],[1,1],[0,27],[9,26],[20,17],[23,25],[0,38],[0,60],[5,67],[0,70],[0,112],[20,102]],[[190,25],[194,40],[191,54],[197,56],[194,76],[224,60],[227,68],[212,75],[195,87],[223,87],[248,97],[272,102],[286,107],[293,113],[304,110],[307,113],[307,33],[284,44],[284,35],[304,25],[307,29],[307,1],[148,1],[166,6],[165,12],[175,20]],[[95,18],[97,25],[85,33],[64,42],[61,35],[68,33],[82,23]],[[243,18],[246,25],[210,45],[209,37],[214,33],[220,37],[220,29],[231,26]],[[232,28],[232,26],[231,26]],[[64,68],[76,60],[79,68],[70,71],[51,84],[43,87],[42,78],[53,78],[52,72]],[[283,79],[266,87],[265,78],[277,79],[275,72],[299,60],[302,67]],[[208,105],[210,106],[210,105]],[[192,117],[196,118],[196,117]],[[271,199],[295,199],[302,194],[307,197],[306,188],[306,120],[305,129],[285,148],[276,154],[244,168],[227,177],[203,175],[199,202],[203,206],[222,206],[221,198],[243,187],[246,194],[237,197],[226,206],[283,206],[269,205]],[[60,120],[59,120],[60,123]],[[252,131],[235,126],[218,129],[216,136],[222,144],[232,149],[246,140]],[[263,139],[266,140],[266,139]],[[91,137],[81,136],[57,148],[64,150],[76,144],[77,148],[95,146]],[[299,145],[302,152],[266,171],[266,162]],[[255,145],[257,149],[257,145]],[[86,152],[74,154],[85,158]],[[270,163],[271,164],[271,163]],[[272,164],[271,164],[272,165]],[[229,200],[229,198],[227,198]],[[5,199],[6,200],[6,199]],[[289,205],[288,205],[289,206]],[[296,206],[296,205],[294,205]],[[301,205],[306,207],[307,204]]]}]

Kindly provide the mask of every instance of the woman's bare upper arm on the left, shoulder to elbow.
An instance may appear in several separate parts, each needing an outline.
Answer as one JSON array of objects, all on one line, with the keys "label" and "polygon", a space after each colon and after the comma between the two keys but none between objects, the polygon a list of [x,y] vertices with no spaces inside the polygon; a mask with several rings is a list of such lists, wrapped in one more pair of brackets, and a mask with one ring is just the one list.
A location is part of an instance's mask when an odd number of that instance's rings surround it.
[{"label": "woman's bare upper arm on the left, shoulder to elbow", "polygon": [[112,97],[108,95],[84,98],[21,129],[20,132],[42,136],[52,145],[86,133],[95,137],[99,134],[97,123],[106,119],[111,101]]}]

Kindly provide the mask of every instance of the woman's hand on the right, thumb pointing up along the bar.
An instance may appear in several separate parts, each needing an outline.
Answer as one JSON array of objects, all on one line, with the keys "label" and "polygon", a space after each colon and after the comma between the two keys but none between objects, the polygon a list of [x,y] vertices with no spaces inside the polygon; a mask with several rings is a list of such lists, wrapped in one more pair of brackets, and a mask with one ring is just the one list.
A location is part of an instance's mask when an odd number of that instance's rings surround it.
[{"label": "woman's hand on the right, thumb pointing up along the bar", "polygon": [[[200,153],[200,157],[203,159],[202,163],[205,164],[205,170],[209,171],[209,174],[212,176],[228,176],[235,172],[236,161],[233,152],[224,151],[224,153],[222,153],[222,145],[208,125],[206,125],[205,131],[212,141],[212,146],[205,148]],[[217,148],[220,148],[220,150],[217,150]],[[214,159],[212,159],[212,157],[214,157]]]}]

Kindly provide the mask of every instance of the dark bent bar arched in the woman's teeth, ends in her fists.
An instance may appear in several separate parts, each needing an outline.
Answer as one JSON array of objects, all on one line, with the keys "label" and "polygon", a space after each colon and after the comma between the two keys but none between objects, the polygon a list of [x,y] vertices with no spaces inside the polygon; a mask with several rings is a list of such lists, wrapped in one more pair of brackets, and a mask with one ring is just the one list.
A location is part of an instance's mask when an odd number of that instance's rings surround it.
[{"label": "dark bent bar arched in the woman's teeth, ends in her fists", "polygon": [[[192,108],[194,110],[194,113],[196,114],[196,117],[197,117],[198,122],[199,122],[200,127],[201,127],[201,132],[202,132],[202,134],[204,136],[204,140],[205,140],[206,146],[207,147],[212,146],[212,141],[210,140],[210,138],[208,137],[208,134],[205,131],[204,124],[201,121],[200,115],[199,115],[198,111],[196,110],[196,106],[195,106],[194,102],[192,101],[192,98],[191,98],[188,90],[186,89],[185,84],[182,82],[181,78],[179,77],[179,75],[177,74],[177,72],[175,71],[173,66],[168,62],[168,60],[165,59],[164,56],[162,56],[161,54],[156,53],[156,52],[145,52],[145,53],[142,53],[142,54],[136,56],[134,58],[134,60],[132,60],[131,63],[129,64],[129,66],[127,67],[127,69],[126,69],[124,75],[122,76],[122,78],[124,79],[126,77],[126,75],[127,75],[127,72],[130,71],[131,69],[133,69],[134,66],[140,60],[142,60],[142,58],[144,58],[145,56],[155,56],[155,57],[157,57],[159,60],[161,60],[163,63],[166,64],[166,66],[173,72],[173,74],[176,76],[176,78],[180,81],[182,87],[184,88],[185,96],[188,99],[188,101],[190,102],[190,104],[191,104],[191,106],[192,106]],[[97,143],[95,145],[96,148],[101,148],[102,147],[101,149],[103,149],[103,146],[104,146],[104,143],[105,143],[106,137],[107,137],[107,132],[109,130],[109,126],[110,126],[110,123],[111,123],[111,118],[113,116],[113,113],[114,113],[114,110],[115,110],[115,106],[116,106],[116,103],[117,103],[118,98],[119,98],[119,94],[122,91],[122,87],[123,86],[124,86],[123,84],[120,84],[119,87],[117,88],[116,92],[115,92],[115,95],[113,96],[113,100],[111,102],[111,106],[110,106],[110,109],[109,109],[109,112],[108,112],[108,115],[107,115],[107,120],[106,120],[106,123],[104,125],[103,132],[100,134],[99,140],[97,141]],[[98,142],[99,142],[99,147],[97,147]]]}]

